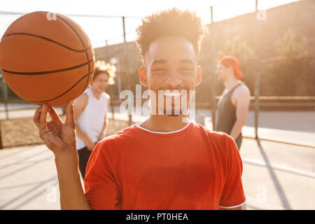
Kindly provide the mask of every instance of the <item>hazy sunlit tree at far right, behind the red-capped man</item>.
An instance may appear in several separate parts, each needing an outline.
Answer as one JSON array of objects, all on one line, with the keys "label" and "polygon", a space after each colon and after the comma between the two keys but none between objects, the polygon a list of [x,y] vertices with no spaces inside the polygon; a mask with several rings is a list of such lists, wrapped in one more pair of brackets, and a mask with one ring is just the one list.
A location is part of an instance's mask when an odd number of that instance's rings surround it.
[{"label": "hazy sunlit tree at far right, behind the red-capped man", "polygon": [[[293,29],[289,28],[276,41],[275,62],[267,66],[266,76],[270,93],[275,95],[307,95],[310,94],[315,78],[311,74],[307,38],[298,38]],[[313,85],[314,87],[314,85]]]}]

